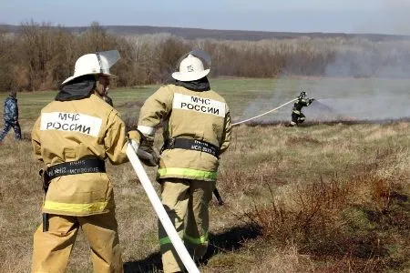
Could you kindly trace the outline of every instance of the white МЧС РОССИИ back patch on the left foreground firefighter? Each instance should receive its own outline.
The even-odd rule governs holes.
[[[58,130],[78,132],[89,136],[98,136],[102,119],[78,113],[42,113],[40,130]]]

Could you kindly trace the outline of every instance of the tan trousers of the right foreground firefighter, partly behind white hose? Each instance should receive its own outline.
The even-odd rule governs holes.
[[[208,248],[209,210],[215,182],[168,178],[161,181],[162,205],[183,239],[190,255],[200,258]],[[164,273],[181,271],[183,265],[159,223],[159,245]]]

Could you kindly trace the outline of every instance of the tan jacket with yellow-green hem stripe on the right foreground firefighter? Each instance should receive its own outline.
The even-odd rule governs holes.
[[[223,153],[231,143],[230,109],[213,90],[192,91],[184,86],[161,86],[141,107],[138,129],[153,136],[162,121],[163,137],[204,141]],[[190,149],[165,149],[159,161],[158,178],[179,177],[214,181],[219,158]]]

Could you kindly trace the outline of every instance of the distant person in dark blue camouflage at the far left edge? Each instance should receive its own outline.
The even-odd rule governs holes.
[[[8,131],[13,127],[15,130],[15,139],[21,140],[21,128],[18,123],[18,106],[17,106],[17,93],[15,91],[10,92],[9,96],[5,98],[4,118],[5,127],[0,133],[0,143],[7,135]]]

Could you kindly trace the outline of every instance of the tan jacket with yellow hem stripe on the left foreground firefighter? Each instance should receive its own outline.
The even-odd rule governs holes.
[[[84,158],[126,162],[127,137],[118,111],[92,94],[53,101],[41,110],[32,131],[36,157],[47,167]],[[51,180],[43,212],[68,216],[106,213],[115,207],[106,173],[84,173]]]

